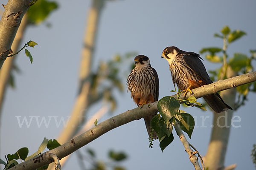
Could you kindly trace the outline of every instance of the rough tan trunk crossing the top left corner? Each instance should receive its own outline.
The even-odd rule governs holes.
[[[12,46],[20,21],[29,9],[30,3],[31,0],[9,0],[4,6],[5,11],[0,21],[0,69],[8,57],[8,51]]]

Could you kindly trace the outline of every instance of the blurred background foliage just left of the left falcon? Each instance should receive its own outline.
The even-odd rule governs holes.
[[[127,53],[125,55],[115,55],[109,61],[101,61],[96,71],[92,71],[88,77],[91,82],[90,101],[92,103],[104,99],[111,104],[111,111],[116,108],[116,99],[114,90],[117,89],[120,93],[124,90],[123,77],[129,74],[132,63],[129,58],[136,53]],[[87,81],[85,80],[85,81]]]

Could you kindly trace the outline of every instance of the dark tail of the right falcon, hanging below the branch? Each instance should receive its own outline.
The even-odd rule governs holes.
[[[205,101],[216,113],[221,113],[226,109],[233,110],[229,105],[227,105],[219,94],[211,94],[208,96],[204,96]]]

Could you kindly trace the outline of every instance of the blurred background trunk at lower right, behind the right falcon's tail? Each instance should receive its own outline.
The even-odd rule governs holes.
[[[235,77],[236,73],[230,67],[227,68],[227,78]],[[221,96],[228,105],[235,108],[236,89],[232,88],[221,92]],[[204,164],[208,170],[223,170],[230,135],[233,110],[213,113],[212,134],[209,142]]]

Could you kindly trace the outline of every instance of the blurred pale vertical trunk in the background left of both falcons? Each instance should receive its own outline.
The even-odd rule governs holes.
[[[102,11],[104,0],[93,0],[90,8],[87,28],[84,34],[84,47],[81,52],[81,65],[79,71],[80,91],[76,98],[76,102],[71,113],[70,120],[61,135],[58,137],[58,142],[63,144],[70,140],[78,129],[81,119],[84,117],[88,103],[88,92],[90,90],[90,81],[86,81],[90,76],[91,64],[93,59],[93,49],[95,47],[95,39],[99,16]]]

